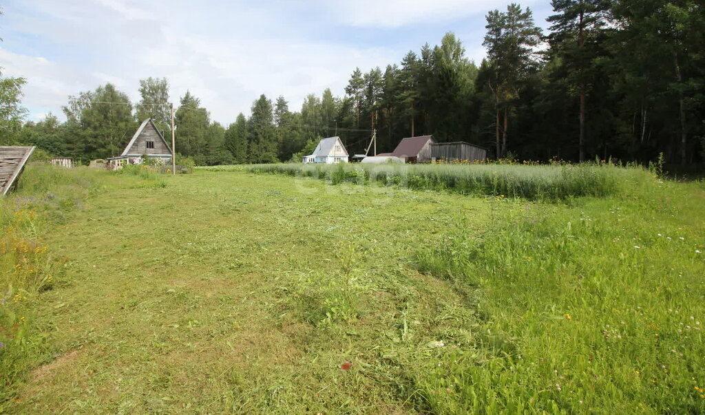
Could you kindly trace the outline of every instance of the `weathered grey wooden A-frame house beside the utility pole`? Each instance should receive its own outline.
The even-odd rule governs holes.
[[[111,168],[122,168],[125,164],[140,164],[142,163],[142,155],[146,154],[150,159],[157,159],[159,163],[171,161],[173,153],[171,147],[164,140],[157,125],[154,125],[152,118],[147,118],[137,132],[133,135],[132,140],[123,154],[117,157],[108,159]]]

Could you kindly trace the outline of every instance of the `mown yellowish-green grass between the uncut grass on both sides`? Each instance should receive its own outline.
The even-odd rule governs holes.
[[[39,297],[56,359],[19,412],[407,413],[435,340],[470,350],[470,286],[419,247],[525,202],[251,173],[107,190],[47,235],[71,280]],[[341,371],[343,361],[353,362]]]

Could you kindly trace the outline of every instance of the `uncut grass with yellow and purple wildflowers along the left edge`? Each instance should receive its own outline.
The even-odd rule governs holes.
[[[27,371],[51,359],[44,319],[35,304],[42,292],[66,283],[66,256],[42,240],[102,190],[159,187],[152,178],[67,170],[30,163],[15,192],[0,198],[0,404],[17,394]]]

